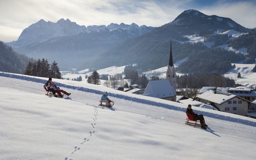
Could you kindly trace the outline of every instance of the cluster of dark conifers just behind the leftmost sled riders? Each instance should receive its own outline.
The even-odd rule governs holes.
[[[62,79],[58,64],[55,61],[52,62],[52,64],[49,64],[48,60],[44,58],[42,58],[42,60],[38,59],[36,62],[30,61],[24,74],[29,76]]]

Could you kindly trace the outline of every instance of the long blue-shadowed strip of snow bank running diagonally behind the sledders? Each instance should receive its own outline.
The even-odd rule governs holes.
[[[9,74],[9,73],[3,73],[3,72],[0,72],[0,76],[20,79],[20,80],[26,80],[26,81],[32,81],[32,82],[37,82],[37,83],[42,83],[42,84],[45,84],[45,82],[46,82],[46,80],[42,80],[40,78],[20,76],[20,75],[16,75],[16,74]],[[100,94],[100,95],[102,94],[102,91],[100,91],[100,90],[94,90],[94,89],[90,89],[90,88],[71,86],[71,85],[66,85],[66,84],[62,84],[62,83],[58,83],[58,82],[55,82],[55,84],[57,86],[60,86],[60,87],[65,87],[65,88],[69,88],[69,89],[73,89],[73,90],[79,90],[79,91],[82,91],[82,92],[90,92],[90,93]],[[148,104],[148,105],[152,105],[152,106],[167,108],[167,109],[170,109],[170,110],[186,112],[186,108],[172,106],[172,105],[169,105],[169,104],[163,104],[163,103],[158,103],[158,102],[154,102],[154,101],[150,101],[150,100],[144,100],[144,99],[140,99],[140,98],[124,96],[122,94],[109,93],[109,95],[112,96],[112,97],[115,97],[115,98],[134,101],[134,102],[138,102],[138,103],[142,103],[142,104]],[[207,117],[210,117],[210,118],[216,118],[216,119],[219,119],[219,120],[226,120],[226,121],[229,121],[229,122],[235,122],[235,123],[240,123],[240,124],[245,124],[245,125],[248,125],[248,126],[256,127],[256,122],[252,122],[252,121],[249,121],[249,120],[243,120],[243,119],[240,119],[240,118],[232,118],[230,116],[224,116],[224,115],[214,114],[214,113],[209,113],[209,112],[204,112],[204,111],[197,111],[197,112],[198,112],[198,114],[203,114],[204,116],[207,116]]]

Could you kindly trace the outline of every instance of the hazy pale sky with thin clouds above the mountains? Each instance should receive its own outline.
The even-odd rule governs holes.
[[[68,18],[84,26],[134,22],[158,27],[188,9],[256,27],[256,0],[0,0],[0,40],[17,40],[22,30],[40,19]]]

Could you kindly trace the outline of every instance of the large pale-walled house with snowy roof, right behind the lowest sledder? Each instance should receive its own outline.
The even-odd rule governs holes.
[[[248,103],[250,104],[250,101],[233,94],[218,93],[215,90],[208,90],[196,97],[200,102],[210,104],[222,112],[241,116],[248,114]]]

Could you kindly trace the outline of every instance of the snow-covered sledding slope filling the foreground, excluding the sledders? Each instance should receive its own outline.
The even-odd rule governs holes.
[[[0,159],[170,160],[256,157],[256,120],[205,108],[208,129],[184,124],[186,106],[82,82],[44,95],[48,78],[0,72]],[[98,106],[109,92],[114,108]]]

